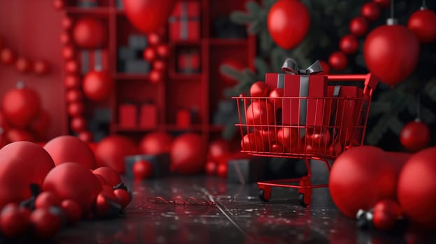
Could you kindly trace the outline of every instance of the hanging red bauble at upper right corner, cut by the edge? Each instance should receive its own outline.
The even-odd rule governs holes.
[[[428,9],[418,10],[409,17],[407,27],[421,43],[433,43],[436,40],[436,13]]]

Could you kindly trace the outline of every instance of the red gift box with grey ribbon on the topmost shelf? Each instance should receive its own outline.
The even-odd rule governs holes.
[[[169,22],[170,40],[200,40],[200,3],[177,2]]]

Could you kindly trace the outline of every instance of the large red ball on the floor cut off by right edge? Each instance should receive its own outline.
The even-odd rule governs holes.
[[[398,178],[398,201],[412,222],[436,230],[436,147],[412,155]]]

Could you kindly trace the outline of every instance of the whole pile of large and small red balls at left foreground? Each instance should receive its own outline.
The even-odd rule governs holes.
[[[96,169],[91,148],[77,137],[56,137],[44,147],[8,144],[0,171],[0,231],[10,238],[50,238],[65,223],[116,217],[132,199],[115,170]]]

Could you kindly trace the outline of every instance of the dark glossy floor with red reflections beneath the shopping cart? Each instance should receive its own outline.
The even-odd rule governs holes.
[[[361,231],[315,189],[312,205],[298,204],[296,190],[274,188],[268,204],[256,184],[231,185],[197,176],[128,183],[133,202],[122,218],[85,221],[64,229],[54,243],[436,243],[435,236]],[[216,206],[153,204],[147,197],[213,199]]]

